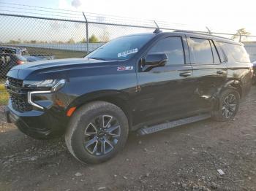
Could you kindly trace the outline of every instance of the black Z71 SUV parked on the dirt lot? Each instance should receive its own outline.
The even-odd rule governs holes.
[[[129,130],[232,119],[251,85],[242,44],[156,31],[113,39],[85,58],[15,66],[7,120],[36,139],[64,134],[74,157],[101,163],[124,147]]]

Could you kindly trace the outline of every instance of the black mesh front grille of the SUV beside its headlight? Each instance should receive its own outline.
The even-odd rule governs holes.
[[[32,106],[28,103],[28,91],[22,86],[23,80],[8,77],[8,81],[7,90],[10,93],[13,109],[18,112],[31,111]]]

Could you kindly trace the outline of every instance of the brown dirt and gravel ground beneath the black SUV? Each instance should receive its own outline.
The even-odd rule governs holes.
[[[63,138],[23,135],[1,113],[0,190],[256,190],[255,95],[254,87],[231,122],[132,133],[124,151],[100,165],[79,163]]]

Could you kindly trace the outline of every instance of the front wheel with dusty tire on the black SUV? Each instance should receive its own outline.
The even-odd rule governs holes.
[[[70,119],[65,141],[69,152],[82,163],[109,160],[126,144],[129,125],[116,105],[94,101],[81,106]]]

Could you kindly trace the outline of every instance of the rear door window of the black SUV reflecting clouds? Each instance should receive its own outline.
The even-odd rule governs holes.
[[[211,44],[207,39],[191,39],[191,46],[193,49],[195,62],[198,64],[211,64],[214,63],[212,57]]]

